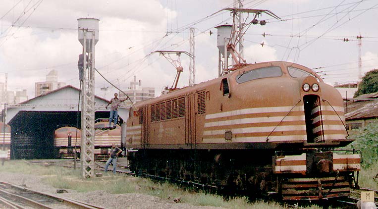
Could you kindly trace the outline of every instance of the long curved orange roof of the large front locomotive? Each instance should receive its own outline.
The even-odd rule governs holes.
[[[240,72],[243,72],[245,70],[253,70],[253,69],[257,69],[257,68],[261,68],[261,67],[266,67],[267,64],[270,64],[270,66],[279,66],[279,67],[281,67],[281,69],[289,67],[289,66],[301,68],[301,69],[306,70],[307,72],[317,76],[317,78],[319,78],[319,80],[321,82],[323,82],[323,80],[313,70],[311,70],[310,68],[305,67],[303,65],[300,65],[300,64],[296,64],[296,63],[293,63],[293,62],[286,62],[286,61],[259,62],[259,63],[254,63],[254,64],[247,64],[243,67],[240,67],[239,69],[232,71],[229,74],[223,75],[223,76],[215,78],[213,80],[204,81],[204,82],[196,84],[192,87],[186,86],[186,87],[171,91],[166,95],[162,95],[162,96],[156,97],[154,99],[145,100],[145,101],[136,103],[135,106],[141,106],[141,105],[144,105],[144,104],[150,104],[150,103],[155,103],[155,102],[159,102],[159,101],[166,100],[166,99],[176,98],[176,97],[185,95],[186,93],[191,92],[191,91],[202,90],[206,86],[212,85],[214,83],[219,83],[223,78],[232,77],[233,75],[239,74]]]

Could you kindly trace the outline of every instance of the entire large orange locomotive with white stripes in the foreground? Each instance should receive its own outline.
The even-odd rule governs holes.
[[[340,94],[311,69],[276,61],[135,104],[126,128],[131,170],[277,194],[348,196],[360,155],[346,139]]]

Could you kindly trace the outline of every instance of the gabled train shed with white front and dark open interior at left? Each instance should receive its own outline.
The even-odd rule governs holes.
[[[63,126],[80,128],[79,92],[68,85],[7,108],[6,123],[11,126],[10,157],[54,158],[54,131]],[[107,104],[108,100],[95,97],[95,119],[109,117]],[[122,123],[128,110],[120,108],[118,112]]]

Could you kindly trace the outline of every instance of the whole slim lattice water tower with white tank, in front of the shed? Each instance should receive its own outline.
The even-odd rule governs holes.
[[[99,41],[99,19],[77,19],[79,42],[83,46],[83,79],[81,81],[81,150],[82,176],[95,172],[95,45]]]

